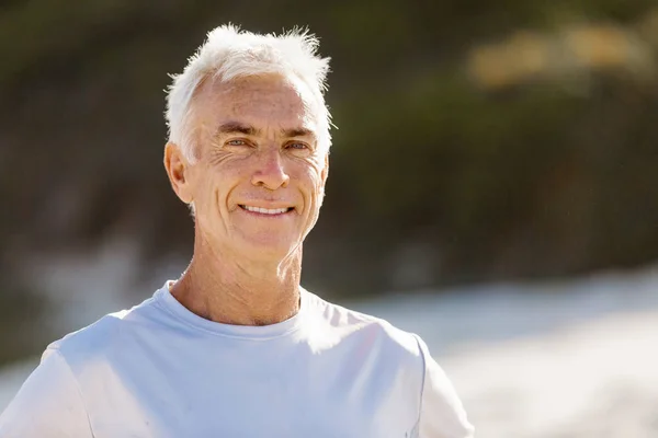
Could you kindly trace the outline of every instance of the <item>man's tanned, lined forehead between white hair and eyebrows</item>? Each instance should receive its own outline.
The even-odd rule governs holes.
[[[313,95],[280,76],[246,77],[228,82],[206,81],[195,97],[195,113],[206,127],[227,122],[258,128],[306,128],[317,130]]]

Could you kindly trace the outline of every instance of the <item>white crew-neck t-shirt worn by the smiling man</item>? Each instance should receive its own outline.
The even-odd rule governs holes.
[[[166,285],[53,343],[1,438],[466,438],[450,381],[413,334],[302,289],[266,326],[190,312]]]

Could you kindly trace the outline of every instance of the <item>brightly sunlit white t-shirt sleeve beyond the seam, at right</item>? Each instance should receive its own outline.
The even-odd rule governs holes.
[[[416,336],[424,360],[424,382],[420,407],[420,438],[472,438],[474,428],[468,423],[462,401],[429,353],[424,342]]]

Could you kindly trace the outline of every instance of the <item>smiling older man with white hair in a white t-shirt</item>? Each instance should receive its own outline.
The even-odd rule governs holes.
[[[175,77],[164,168],[194,256],[141,304],[52,344],[0,437],[465,438],[413,334],[299,285],[330,146],[307,34],[222,26]]]

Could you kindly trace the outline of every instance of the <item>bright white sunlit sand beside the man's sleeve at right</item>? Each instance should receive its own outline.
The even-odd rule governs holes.
[[[478,438],[658,436],[658,312],[441,358]]]

